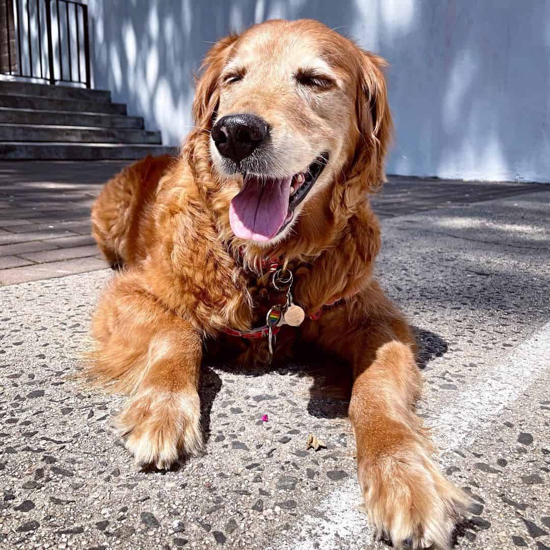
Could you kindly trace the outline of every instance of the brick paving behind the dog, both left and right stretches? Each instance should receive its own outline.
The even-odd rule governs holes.
[[[90,206],[127,162],[0,163],[0,285],[107,267],[90,235]],[[390,177],[374,204],[381,217],[519,195],[543,189]]]

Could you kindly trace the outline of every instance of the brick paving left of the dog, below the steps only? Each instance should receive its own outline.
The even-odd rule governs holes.
[[[0,163],[0,284],[107,267],[90,206],[126,162]]]

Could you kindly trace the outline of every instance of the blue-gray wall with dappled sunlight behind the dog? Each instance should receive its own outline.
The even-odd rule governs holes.
[[[95,86],[162,130],[189,131],[211,42],[275,17],[315,18],[386,57],[388,173],[550,182],[545,0],[89,0]]]

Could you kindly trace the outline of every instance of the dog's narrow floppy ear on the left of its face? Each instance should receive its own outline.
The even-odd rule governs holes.
[[[216,42],[201,64],[193,101],[193,118],[201,129],[212,128],[212,118],[219,102],[219,76],[237,38],[238,35],[232,34]]]

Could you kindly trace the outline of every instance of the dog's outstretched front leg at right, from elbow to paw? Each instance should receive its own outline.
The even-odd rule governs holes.
[[[350,418],[365,509],[395,548],[411,539],[447,549],[467,500],[434,463],[426,428],[414,414],[420,376],[411,347],[389,340],[374,360],[355,365]]]

